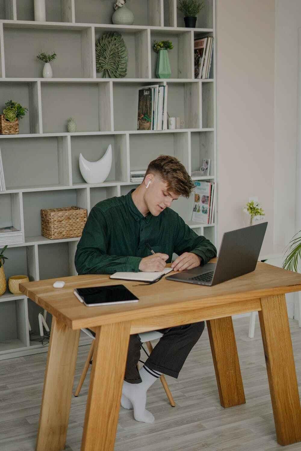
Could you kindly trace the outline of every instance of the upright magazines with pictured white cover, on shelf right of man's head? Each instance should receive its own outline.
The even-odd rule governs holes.
[[[213,224],[215,189],[212,182],[194,182],[194,205],[192,221],[202,224]]]

